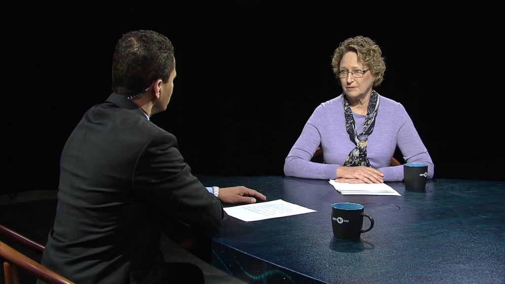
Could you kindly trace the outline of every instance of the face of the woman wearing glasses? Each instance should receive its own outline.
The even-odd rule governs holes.
[[[358,55],[355,52],[349,51],[344,54],[340,61],[339,70],[346,70],[348,72],[345,78],[340,78],[340,83],[344,93],[347,95],[347,100],[365,99],[372,94],[374,76],[367,66],[358,62]],[[365,71],[363,77],[354,77],[351,72],[355,70]]]

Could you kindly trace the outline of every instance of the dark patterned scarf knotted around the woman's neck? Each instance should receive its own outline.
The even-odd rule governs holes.
[[[379,109],[379,94],[372,90],[372,95],[370,97],[370,102],[368,102],[367,107],[367,118],[365,119],[365,124],[363,125],[363,132],[358,134],[356,131],[356,122],[352,116],[352,111],[349,106],[349,102],[345,98],[345,94],[342,94],[342,103],[344,105],[344,115],[345,115],[345,129],[349,133],[349,138],[356,148],[350,151],[349,156],[345,159],[344,166],[346,167],[356,167],[356,166],[367,166],[370,167],[370,161],[367,158],[367,140],[368,135],[372,134],[375,126],[375,117],[377,116],[377,110]]]

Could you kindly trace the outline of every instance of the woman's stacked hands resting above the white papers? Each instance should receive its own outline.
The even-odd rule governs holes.
[[[338,166],[336,182],[348,183],[381,183],[384,174],[377,169],[365,166],[344,167]]]

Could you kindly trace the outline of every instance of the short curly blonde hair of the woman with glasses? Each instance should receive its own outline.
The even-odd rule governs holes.
[[[340,70],[340,61],[344,54],[349,51],[355,52],[358,55],[358,62],[370,69],[370,73],[375,78],[373,86],[380,85],[382,80],[384,80],[384,71],[386,71],[386,63],[382,57],[382,52],[375,41],[361,35],[347,38],[340,43],[333,53],[331,66],[338,82],[340,83],[340,78],[337,74]]]

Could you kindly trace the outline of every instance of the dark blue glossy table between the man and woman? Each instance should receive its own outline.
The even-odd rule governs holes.
[[[228,217],[208,236],[211,264],[249,283],[504,283],[505,182],[436,179],[401,196],[341,195],[327,180],[206,177],[245,185],[268,201],[317,212],[245,222]],[[333,237],[331,204],[356,202],[375,226],[358,242]],[[364,227],[368,226],[364,219]]]

